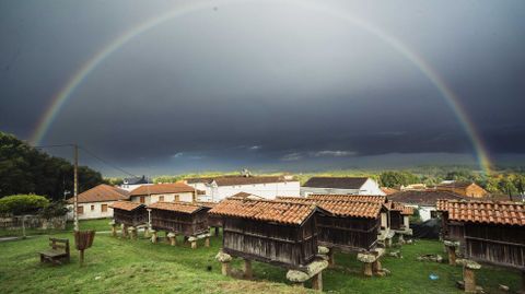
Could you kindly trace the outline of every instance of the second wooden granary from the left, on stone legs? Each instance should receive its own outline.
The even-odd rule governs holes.
[[[177,235],[183,235],[185,240],[190,242],[194,249],[197,248],[198,239],[206,239],[205,245],[209,246],[209,207],[189,202],[156,202],[149,209],[153,243],[156,243],[158,231],[165,231],[166,238],[173,246],[176,245]]]

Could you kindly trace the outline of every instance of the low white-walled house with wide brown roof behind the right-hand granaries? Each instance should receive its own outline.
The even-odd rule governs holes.
[[[411,207],[419,212],[421,221],[428,221],[436,216],[435,203],[438,199],[468,200],[460,195],[440,190],[407,190],[388,196],[388,200]]]

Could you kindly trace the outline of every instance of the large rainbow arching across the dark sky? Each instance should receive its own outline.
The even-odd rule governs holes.
[[[224,1],[199,1],[199,0],[190,0],[186,4],[177,4],[171,11],[158,15],[151,20],[147,20],[141,24],[131,27],[119,37],[115,38],[113,42],[107,44],[103,47],[100,51],[97,51],[92,58],[90,58],[83,66],[68,80],[66,85],[60,89],[60,91],[52,97],[47,110],[44,113],[42,118],[38,120],[34,132],[31,136],[30,141],[33,144],[42,144],[42,140],[45,138],[46,133],[48,132],[49,128],[51,127],[55,118],[58,116],[60,110],[62,109],[63,105],[70,99],[75,92],[75,90],[84,82],[88,77],[102,63],[106,58],[108,58],[112,54],[117,51],[120,47],[125,46],[128,42],[133,39],[135,37],[148,32],[149,30],[166,22],[173,20],[175,17],[180,17],[192,12],[197,12],[205,9],[212,9],[220,5],[225,4],[234,4],[234,3],[244,3],[244,2],[257,2],[260,0],[224,0]],[[275,1],[278,4],[283,3],[293,3],[299,5],[303,9],[314,10],[317,13],[326,13],[327,15],[343,20],[349,22],[353,25],[359,26],[360,28],[369,32],[370,34],[378,37],[384,43],[388,44],[392,48],[394,48],[397,52],[402,55],[407,60],[413,63],[421,73],[423,73],[430,82],[438,89],[441,93],[443,98],[445,99],[446,104],[452,108],[454,111],[459,125],[465,130],[468,139],[470,140],[476,158],[481,170],[486,174],[490,173],[491,161],[486,151],[486,148],[482,143],[480,136],[477,133],[474,124],[469,120],[466,111],[458,103],[457,96],[454,92],[445,84],[443,79],[435,72],[432,67],[423,59],[421,56],[416,54],[415,51],[410,50],[404,43],[401,43],[396,37],[387,34],[385,31],[381,30],[377,26],[372,25],[371,23],[365,22],[362,19],[359,19],[347,11],[336,10],[334,8],[329,8],[326,5],[322,5],[319,3],[315,3],[311,0],[289,0],[289,1],[276,1],[276,0],[264,0],[264,2]]]

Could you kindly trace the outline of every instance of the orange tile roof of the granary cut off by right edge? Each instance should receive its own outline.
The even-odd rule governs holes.
[[[440,200],[438,210],[458,222],[525,226],[525,203]]]

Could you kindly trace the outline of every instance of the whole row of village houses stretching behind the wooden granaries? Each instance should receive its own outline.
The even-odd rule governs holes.
[[[312,195],[386,196],[394,202],[416,209],[421,221],[436,216],[439,199],[493,199],[476,183],[444,180],[433,187],[412,184],[395,189],[380,187],[370,177],[312,177],[301,186],[292,175],[254,176],[248,170],[242,170],[238,175],[187,178],[177,183],[153,184],[142,176],[125,178],[118,186],[102,184],[78,196],[78,213],[81,220],[112,217],[112,204],[119,200],[149,205],[173,201],[220,202],[231,197],[275,200]],[[68,202],[71,205],[69,216],[72,217],[73,199]]]

